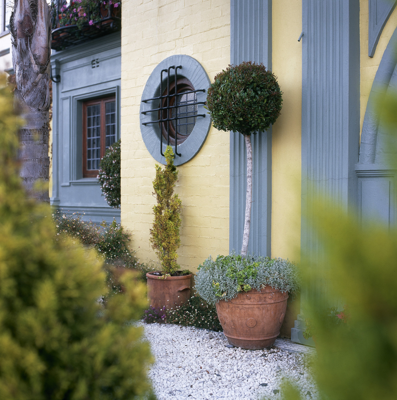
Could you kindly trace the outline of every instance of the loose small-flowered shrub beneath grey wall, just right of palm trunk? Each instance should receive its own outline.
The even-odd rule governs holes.
[[[84,214],[83,214],[84,215]],[[56,210],[52,214],[56,226],[56,240],[67,241],[68,238],[85,246],[94,245],[101,240],[101,229],[93,222],[84,221],[82,214],[67,214]]]

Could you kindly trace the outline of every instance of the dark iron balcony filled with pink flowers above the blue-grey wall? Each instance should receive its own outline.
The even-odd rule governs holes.
[[[121,29],[120,0],[54,0],[52,10],[51,47],[54,50]]]

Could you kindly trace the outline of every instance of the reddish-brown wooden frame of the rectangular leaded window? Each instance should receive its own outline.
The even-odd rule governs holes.
[[[98,170],[87,170],[87,107],[94,106],[100,104],[100,113],[101,113],[101,130],[100,130],[100,144],[101,144],[101,152],[100,157],[102,158],[105,155],[106,151],[106,103],[116,102],[115,96],[100,98],[96,100],[89,100],[83,102],[83,178],[96,178],[98,175]],[[117,109],[116,109],[117,113]]]

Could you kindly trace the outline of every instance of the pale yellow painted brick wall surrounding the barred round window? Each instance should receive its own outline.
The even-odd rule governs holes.
[[[133,235],[141,262],[155,260],[155,160],[139,125],[147,78],[173,54],[202,64],[211,80],[230,63],[230,0],[125,0],[121,38],[121,222]],[[211,128],[200,152],[178,167],[182,200],[178,262],[195,270],[209,254],[229,251],[229,134]]]

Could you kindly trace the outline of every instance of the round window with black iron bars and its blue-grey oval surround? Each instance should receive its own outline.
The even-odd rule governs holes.
[[[155,160],[165,164],[167,143],[175,165],[200,151],[211,126],[204,108],[209,86],[204,68],[189,56],[168,57],[153,70],[142,94],[140,120],[142,138]]]

